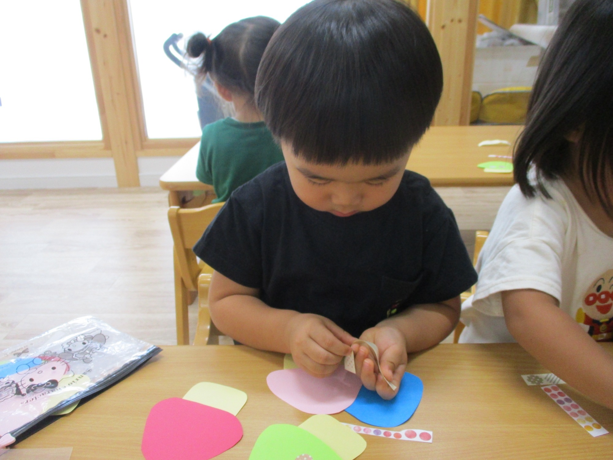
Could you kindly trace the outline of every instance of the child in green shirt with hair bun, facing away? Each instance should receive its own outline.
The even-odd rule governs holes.
[[[230,24],[212,40],[197,33],[188,41],[188,56],[199,58],[197,80],[208,75],[235,112],[234,117],[202,130],[196,177],[213,185],[217,195],[213,202],[226,201],[235,188],[283,161],[281,148],[254,102],[257,67],[279,25],[264,16],[246,18]]]

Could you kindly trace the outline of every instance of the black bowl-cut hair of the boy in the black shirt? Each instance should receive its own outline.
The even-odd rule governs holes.
[[[311,163],[389,163],[424,134],[443,89],[430,32],[397,0],[314,0],[276,31],[256,103]]]

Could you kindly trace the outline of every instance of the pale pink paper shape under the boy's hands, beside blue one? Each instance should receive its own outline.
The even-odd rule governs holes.
[[[313,377],[302,369],[275,370],[266,378],[268,388],[287,404],[312,414],[338,413],[357,397],[362,381],[343,367],[330,377]]]

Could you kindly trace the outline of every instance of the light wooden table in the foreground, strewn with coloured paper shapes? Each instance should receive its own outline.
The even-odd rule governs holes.
[[[604,347],[613,352],[613,344]],[[248,394],[238,413],[245,435],[218,457],[246,459],[267,426],[298,425],[310,416],[268,390],[266,375],[282,367],[282,355],[248,347],[164,347],[134,375],[17,448],[73,447],[71,460],[142,458],[140,440],[150,408],[162,399],[183,396],[199,381],[214,381]],[[539,386],[524,383],[520,374],[545,370],[517,344],[438,345],[413,356],[408,370],[421,377],[425,390],[416,413],[402,428],[433,431],[433,443],[365,435],[368,447],[359,460],[592,460],[613,456],[613,411],[563,385],[569,396],[612,431],[593,438]],[[346,412],[334,417],[364,425]]]

